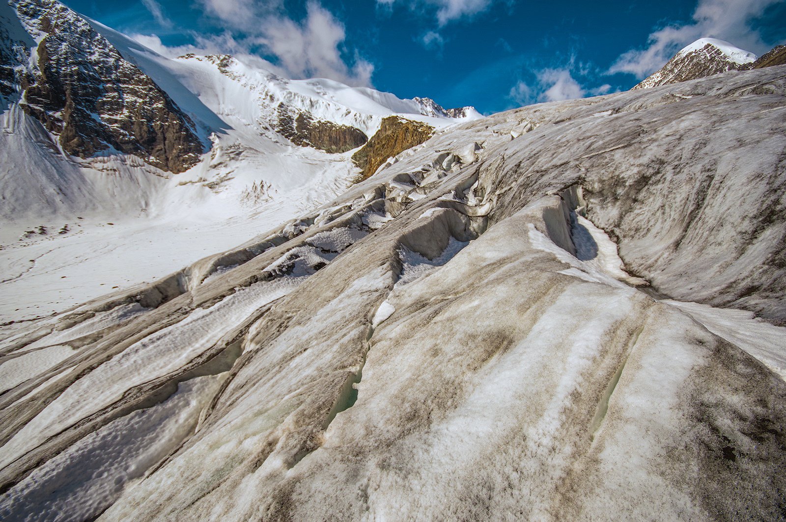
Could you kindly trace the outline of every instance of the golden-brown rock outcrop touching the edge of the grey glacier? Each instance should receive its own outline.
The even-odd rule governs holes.
[[[352,155],[352,161],[361,168],[361,179],[365,180],[391,156],[413,148],[433,135],[434,128],[425,123],[388,116],[382,120],[380,130],[376,131],[369,143]]]

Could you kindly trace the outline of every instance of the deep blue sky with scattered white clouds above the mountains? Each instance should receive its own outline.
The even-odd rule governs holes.
[[[705,36],[762,54],[786,0],[65,0],[157,51],[230,53],[491,113],[630,89]]]

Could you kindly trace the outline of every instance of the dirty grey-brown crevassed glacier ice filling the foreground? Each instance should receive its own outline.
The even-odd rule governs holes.
[[[0,517],[783,517],[784,121],[786,67],[508,111],[30,323]]]

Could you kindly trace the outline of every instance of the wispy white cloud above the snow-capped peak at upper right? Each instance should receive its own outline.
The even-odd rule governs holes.
[[[699,38],[718,38],[734,46],[764,53],[769,46],[751,22],[765,9],[783,0],[700,0],[692,23],[669,25],[649,35],[645,49],[623,53],[608,72],[626,72],[644,78],[665,64],[682,47]]]

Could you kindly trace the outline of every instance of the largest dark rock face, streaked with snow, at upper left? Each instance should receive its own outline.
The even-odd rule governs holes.
[[[115,149],[175,173],[199,160],[204,147],[189,117],[90,24],[53,0],[19,2],[17,12],[29,33],[44,35],[38,68],[17,72],[20,105],[64,151],[88,158]]]

